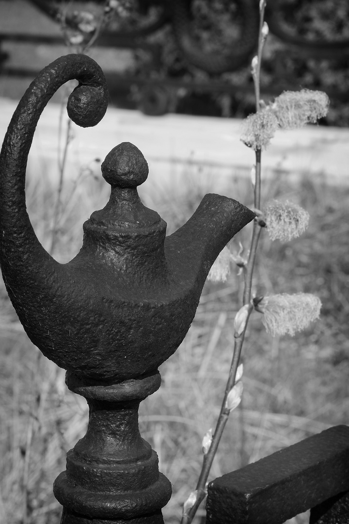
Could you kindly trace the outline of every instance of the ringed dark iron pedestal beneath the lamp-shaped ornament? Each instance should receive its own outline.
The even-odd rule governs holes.
[[[66,383],[87,399],[89,421],[54,482],[61,524],[162,524],[171,483],[138,429],[139,403],[160,387],[160,374],[106,386],[67,374]]]

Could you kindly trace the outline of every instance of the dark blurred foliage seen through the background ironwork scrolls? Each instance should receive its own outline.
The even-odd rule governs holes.
[[[194,13],[200,12],[202,4],[231,4],[229,0],[194,0]],[[275,4],[275,2],[274,2]],[[274,8],[274,4],[271,8]],[[349,39],[349,4],[346,0],[278,0],[277,19],[290,35],[307,41],[339,41]],[[222,7],[224,10],[224,6]],[[268,20],[268,17],[266,18]],[[193,31],[204,35],[200,42],[208,42],[208,49],[227,53],[227,41],[214,30],[207,28],[207,19],[196,18]],[[232,25],[234,31],[238,27]],[[230,28],[231,30],[231,28]],[[213,39],[213,42],[212,42]],[[216,40],[215,40],[216,39]],[[179,89],[176,93],[175,111],[189,114],[245,117],[254,111],[253,83],[249,61],[233,72],[213,75],[191,65],[179,50],[172,26],[166,26],[147,37],[161,46],[160,67],[151,74],[156,79],[177,79],[209,86],[212,81],[222,81],[227,87],[234,86],[235,93],[209,93],[207,89]],[[348,41],[347,41],[348,44]],[[345,51],[345,52],[344,52]],[[149,62],[144,52],[134,51],[137,62],[136,74],[144,74]],[[269,34],[263,58],[261,88],[265,99],[287,89],[316,89],[326,92],[331,99],[328,116],[321,124],[346,126],[349,123],[348,90],[349,47],[331,52],[309,51],[301,45],[291,45]],[[228,91],[228,90],[227,90]]]

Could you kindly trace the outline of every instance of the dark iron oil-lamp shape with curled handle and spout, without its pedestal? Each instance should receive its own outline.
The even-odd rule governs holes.
[[[80,253],[59,264],[40,245],[25,209],[25,168],[38,118],[62,83],[78,78],[69,114],[83,126],[107,102],[102,70],[81,55],[61,57],[32,82],[18,105],[0,158],[0,260],[5,284],[34,344],[81,377],[125,380],[153,370],[184,339],[208,271],[254,213],[206,195],[193,217],[166,238],[166,223],[141,203],[148,175],[142,153],[115,147],[102,165],[109,202],[84,224]]]

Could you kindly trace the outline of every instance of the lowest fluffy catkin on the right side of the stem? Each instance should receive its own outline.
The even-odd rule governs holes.
[[[311,293],[280,293],[259,299],[255,309],[263,313],[267,333],[294,336],[319,318],[321,301]]]

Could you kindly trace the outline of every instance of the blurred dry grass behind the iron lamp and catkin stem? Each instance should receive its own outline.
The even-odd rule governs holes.
[[[161,191],[143,191],[145,203],[151,202],[171,231],[205,192],[190,185],[190,172],[184,175],[189,185],[173,188],[170,201]],[[80,248],[82,222],[107,199],[104,185],[91,173],[77,185],[65,184],[55,255],[60,261]],[[54,191],[47,180],[29,177],[31,220],[47,248]],[[232,182],[226,194],[251,205],[248,181]],[[242,409],[233,412],[227,424],[211,478],[348,420],[348,193],[314,180],[304,180],[295,189],[276,173],[275,180],[266,183],[265,194],[295,200],[312,220],[308,232],[288,244],[271,243],[264,235],[255,290],[314,292],[322,299],[322,316],[292,339],[272,339],[257,314],[252,317],[243,355]],[[245,228],[240,239],[248,236]],[[206,283],[185,341],[161,366],[161,389],[141,405],[142,436],[159,454],[161,471],[173,484],[173,497],[164,508],[167,524],[179,521],[181,505],[195,488],[202,436],[218,415],[240,287],[237,275],[224,285]],[[0,522],[58,524],[60,506],[52,483],[64,470],[65,453],[85,432],[86,403],[66,389],[62,370],[28,341],[3,287],[0,299]],[[196,522],[203,514],[199,511]]]

